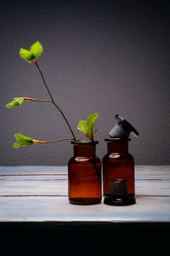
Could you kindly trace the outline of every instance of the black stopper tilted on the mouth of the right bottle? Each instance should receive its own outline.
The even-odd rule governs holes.
[[[109,132],[110,137],[127,138],[130,136],[131,132],[133,132],[136,137],[139,136],[139,132],[136,131],[133,125],[127,122],[126,119],[122,118],[122,116],[118,114],[116,114],[115,118],[118,121],[118,124],[114,125],[114,127]]]

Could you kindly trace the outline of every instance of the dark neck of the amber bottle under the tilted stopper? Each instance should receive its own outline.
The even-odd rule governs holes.
[[[119,153],[127,154],[128,153],[128,142],[127,141],[112,141],[107,143],[108,154]]]

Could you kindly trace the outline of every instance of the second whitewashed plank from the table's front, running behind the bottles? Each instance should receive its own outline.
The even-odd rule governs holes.
[[[136,195],[170,196],[170,180],[136,180]],[[67,180],[0,180],[3,195],[68,195]]]

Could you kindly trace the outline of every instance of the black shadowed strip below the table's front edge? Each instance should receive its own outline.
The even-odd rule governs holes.
[[[167,255],[167,224],[3,224],[2,255]],[[126,254],[125,254],[126,253]]]

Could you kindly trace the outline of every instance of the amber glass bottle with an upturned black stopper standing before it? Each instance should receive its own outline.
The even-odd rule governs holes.
[[[134,198],[134,160],[128,154],[129,138],[109,138],[108,153],[103,158],[104,203],[131,205]]]

